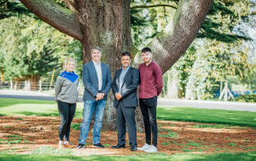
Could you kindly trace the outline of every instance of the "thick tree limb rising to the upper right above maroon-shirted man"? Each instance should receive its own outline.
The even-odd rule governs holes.
[[[183,55],[199,33],[201,24],[214,0],[180,0],[172,21],[146,46],[152,49],[153,60],[163,73]],[[137,54],[133,66],[143,63]]]

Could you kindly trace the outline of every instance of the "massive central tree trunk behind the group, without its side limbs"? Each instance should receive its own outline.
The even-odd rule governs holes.
[[[83,40],[84,64],[92,60],[91,49],[93,47],[102,48],[102,62],[110,66],[111,76],[121,68],[120,54],[133,50],[133,44],[130,33],[129,20],[129,1],[108,2],[98,1],[76,1],[78,17]],[[109,130],[116,129],[116,109],[113,107],[113,95],[110,91],[105,106],[104,128]],[[137,117],[141,117],[140,110],[137,110]],[[93,120],[93,119],[92,119]],[[137,127],[141,127],[142,118],[138,119]],[[138,131],[141,131],[138,128]]]

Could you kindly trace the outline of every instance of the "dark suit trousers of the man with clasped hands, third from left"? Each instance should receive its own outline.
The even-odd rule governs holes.
[[[125,107],[122,100],[116,108],[119,145],[126,143],[126,126],[128,127],[128,140],[130,146],[137,147],[137,128],[135,122],[135,106]]]

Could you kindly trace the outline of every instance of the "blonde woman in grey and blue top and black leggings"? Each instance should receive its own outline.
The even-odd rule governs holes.
[[[68,142],[70,124],[75,115],[76,102],[78,102],[78,76],[74,72],[75,59],[66,58],[64,72],[57,77],[55,87],[55,98],[57,109],[61,119],[58,128],[59,148],[75,148]]]

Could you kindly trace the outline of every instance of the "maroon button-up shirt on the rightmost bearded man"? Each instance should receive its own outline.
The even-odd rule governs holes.
[[[139,98],[150,98],[159,96],[163,89],[162,71],[158,64],[151,61],[148,66],[140,64],[138,66],[140,74]]]

